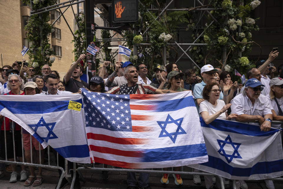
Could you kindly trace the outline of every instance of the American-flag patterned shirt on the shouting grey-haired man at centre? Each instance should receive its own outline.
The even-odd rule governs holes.
[[[124,84],[118,87],[113,87],[110,91],[107,91],[108,94],[155,94],[157,88],[152,87],[148,84],[138,84],[138,88],[134,93],[136,85],[133,87],[128,87],[128,84]]]

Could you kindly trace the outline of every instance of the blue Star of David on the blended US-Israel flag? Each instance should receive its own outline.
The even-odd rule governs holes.
[[[161,128],[161,132],[160,132],[158,137],[167,137],[168,136],[172,140],[172,142],[175,144],[175,141],[176,141],[178,135],[186,134],[185,130],[181,127],[183,119],[184,118],[179,118],[179,119],[174,120],[168,114],[165,121],[157,121],[158,125]],[[177,125],[176,132],[169,133],[168,131],[166,131],[166,126],[167,126],[167,124],[170,124],[170,123],[175,123]]]

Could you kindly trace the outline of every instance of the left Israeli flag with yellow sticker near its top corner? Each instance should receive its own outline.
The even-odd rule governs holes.
[[[80,94],[0,95],[0,114],[22,126],[44,148],[50,145],[71,162],[90,163],[82,104]]]

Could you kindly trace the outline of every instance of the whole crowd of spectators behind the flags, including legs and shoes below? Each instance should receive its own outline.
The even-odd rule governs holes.
[[[274,66],[269,67],[274,58],[279,55],[279,52],[274,51],[269,54],[269,58],[258,61],[256,67],[247,71],[247,81],[242,86],[237,81],[232,82],[232,74],[229,71],[214,69],[210,64],[204,65],[200,70],[200,75],[196,76],[195,70],[188,69],[182,72],[176,64],[168,64],[166,66],[157,65],[153,71],[155,78],[151,81],[148,77],[147,66],[140,63],[134,66],[133,63],[116,62],[113,73],[108,76],[107,67],[111,62],[105,61],[99,69],[98,75],[85,81],[83,75],[83,60],[85,54],[81,54],[75,61],[62,81],[57,71],[52,71],[50,66],[45,64],[42,66],[41,75],[35,75],[35,69],[30,66],[21,66],[15,62],[12,66],[5,65],[0,72],[0,94],[1,95],[65,95],[80,93],[80,88],[86,88],[92,92],[103,92],[108,94],[164,94],[173,92],[182,92],[191,90],[195,100],[199,116],[206,124],[211,123],[215,119],[236,120],[240,122],[250,122],[258,125],[261,131],[269,131],[272,120],[283,121],[283,64],[278,67],[278,76],[274,77],[277,70]],[[184,78],[185,76],[185,78]],[[15,155],[22,161],[40,162],[43,160],[45,153],[38,141],[23,129],[21,133],[18,124],[8,118],[1,116],[1,158],[9,161],[14,161],[13,152],[13,135],[11,130],[14,130],[15,140]],[[280,128],[281,125],[273,127]],[[6,130],[6,146],[5,153],[5,137]],[[22,157],[22,136],[24,157]],[[31,144],[32,143],[32,144]],[[34,148],[34,149],[33,149]],[[31,157],[30,151],[33,150],[34,157]],[[41,153],[39,153],[41,151]],[[56,154],[56,151],[53,151]],[[41,154],[41,158],[40,158]],[[57,155],[55,155],[57,158]],[[57,162],[57,159],[56,159]],[[58,156],[59,166],[64,167],[65,162],[62,156]],[[73,164],[70,163],[70,167]],[[107,167],[107,165],[105,165]],[[24,181],[24,186],[38,186],[42,184],[42,168],[38,168],[39,172],[36,175],[34,167],[29,166],[30,176],[27,177],[27,172],[24,166],[21,166],[20,180]],[[4,176],[5,164],[0,163],[0,177]],[[161,177],[162,184],[168,184],[168,176],[166,173],[168,168],[164,168],[164,174]],[[180,167],[175,167],[175,171],[179,171]],[[6,168],[7,171],[7,168]],[[193,182],[201,184],[198,172],[194,170]],[[59,172],[61,173],[61,172]],[[11,177],[9,182],[17,182],[17,171],[15,164],[11,164]],[[103,171],[103,179],[109,178],[109,173]],[[182,185],[183,180],[181,175],[173,174],[176,185]],[[139,179],[136,180],[134,172],[127,172],[127,183],[129,189],[142,188],[150,189],[148,185],[149,173],[140,173]],[[216,182],[216,185],[213,183]],[[226,180],[226,182],[229,182]],[[60,188],[63,188],[68,181],[64,178]],[[265,180],[268,189],[274,189],[272,180]],[[219,179],[215,177],[205,176],[206,188],[220,188]],[[237,181],[238,187],[248,189],[248,185],[244,180]],[[56,186],[57,187],[57,186]],[[75,180],[74,188],[80,188],[78,177]]]

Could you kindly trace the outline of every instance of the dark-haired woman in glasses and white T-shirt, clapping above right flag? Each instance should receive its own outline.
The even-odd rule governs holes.
[[[227,109],[231,106],[231,103],[225,105],[223,100],[219,100],[220,92],[219,84],[215,82],[206,84],[203,89],[204,101],[200,103],[200,115],[206,124],[217,118],[231,120],[237,117],[237,114],[228,116]]]

